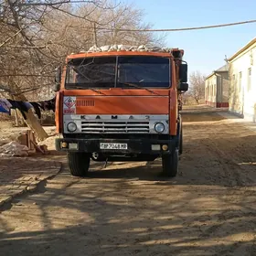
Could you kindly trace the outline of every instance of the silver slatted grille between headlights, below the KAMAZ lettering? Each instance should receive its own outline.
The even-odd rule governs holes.
[[[148,121],[82,121],[82,133],[149,133]]]

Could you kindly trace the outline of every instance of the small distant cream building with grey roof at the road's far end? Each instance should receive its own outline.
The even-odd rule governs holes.
[[[206,104],[215,108],[229,107],[229,65],[214,70],[205,80]]]

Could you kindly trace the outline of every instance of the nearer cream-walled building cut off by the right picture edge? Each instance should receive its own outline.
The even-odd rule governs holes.
[[[255,122],[256,119],[256,37],[240,48],[229,61],[229,112]]]

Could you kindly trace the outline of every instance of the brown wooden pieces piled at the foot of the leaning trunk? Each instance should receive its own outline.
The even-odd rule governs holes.
[[[29,151],[32,153],[40,152],[43,155],[46,155],[48,153],[48,146],[45,144],[38,145],[35,133],[33,133],[33,131],[31,130],[27,130],[26,133],[22,133],[21,135],[19,135],[17,140],[20,144],[27,145]]]

